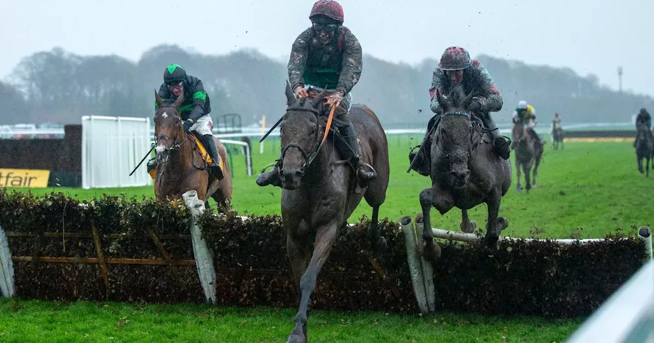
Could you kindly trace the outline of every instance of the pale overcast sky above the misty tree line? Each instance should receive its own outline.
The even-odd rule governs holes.
[[[310,25],[313,0],[1,0],[0,78],[22,57],[55,46],[137,61],[179,44],[203,54],[256,48],[286,58]],[[654,95],[653,0],[341,0],[364,53],[387,61],[438,58],[450,45],[472,56],[518,59],[593,73],[617,89]],[[648,36],[649,35],[649,36]],[[172,61],[171,61],[172,62]],[[362,77],[366,77],[366,69]]]

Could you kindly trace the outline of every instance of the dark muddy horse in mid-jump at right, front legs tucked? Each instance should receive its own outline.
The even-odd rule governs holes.
[[[468,210],[481,203],[488,206],[486,242],[492,246],[500,233],[508,227],[504,217],[498,217],[500,202],[511,186],[511,163],[495,154],[492,140],[483,129],[479,118],[472,118],[467,110],[472,92],[465,95],[461,87],[455,87],[446,98],[436,91],[438,103],[443,108],[438,125],[431,138],[432,187],[420,193],[422,237],[426,245],[424,258],[435,263],[441,250],[434,242],[430,210],[434,206],[440,214],[456,207],[461,210],[460,229],[472,233],[477,226],[468,218]]]

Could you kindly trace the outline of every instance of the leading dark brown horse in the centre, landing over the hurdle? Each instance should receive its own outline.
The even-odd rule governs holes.
[[[385,248],[377,217],[388,187],[388,142],[375,113],[367,106],[353,105],[349,115],[358,132],[362,159],[377,171],[368,184],[359,185],[349,160],[338,159],[341,153],[336,145],[343,142],[335,133],[323,140],[322,101],[328,91],[320,91],[313,99],[296,99],[287,82],[285,93],[287,108],[280,124],[281,212],[288,259],[300,286],[300,306],[287,342],[307,342],[309,303],[318,272],[339,228],[346,225],[362,197],[372,207],[370,244],[375,251]]]

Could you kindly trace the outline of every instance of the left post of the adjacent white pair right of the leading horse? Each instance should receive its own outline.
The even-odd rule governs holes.
[[[405,216],[400,218],[400,227],[402,227],[402,232],[404,232],[404,243],[407,249],[407,262],[409,263],[409,273],[411,274],[411,284],[413,284],[415,300],[418,302],[420,312],[427,314],[429,312],[429,305],[427,304],[427,297],[424,293],[422,263],[417,252],[415,229],[413,229],[413,221],[411,221],[411,217]]]

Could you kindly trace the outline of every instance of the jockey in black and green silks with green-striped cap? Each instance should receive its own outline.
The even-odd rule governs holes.
[[[196,131],[200,134],[202,143],[211,156],[209,172],[222,180],[223,174],[220,169],[220,155],[216,149],[216,142],[213,140],[213,120],[209,112],[211,106],[209,95],[204,90],[202,81],[195,76],[186,74],[181,65],[171,64],[163,71],[163,84],[159,88],[159,95],[164,103],[171,103],[184,93],[184,102],[179,107],[179,114],[182,116],[184,131]],[[156,104],[154,105],[156,108]],[[148,162],[148,172],[156,168],[156,161]]]

